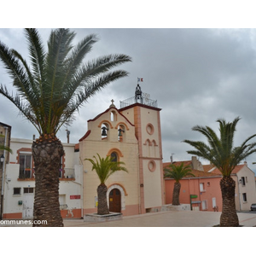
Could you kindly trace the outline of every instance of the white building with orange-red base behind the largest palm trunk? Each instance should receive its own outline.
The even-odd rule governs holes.
[[[60,170],[60,205],[62,218],[83,216],[83,166],[75,144],[63,143],[65,154]],[[32,161],[32,140],[12,138],[3,196],[3,218],[32,218],[35,179]]]

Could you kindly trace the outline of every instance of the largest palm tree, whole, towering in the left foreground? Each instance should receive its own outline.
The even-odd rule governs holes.
[[[84,64],[85,55],[98,40],[96,35],[91,34],[73,46],[74,32],[55,29],[50,32],[45,51],[36,29],[26,29],[25,34],[32,67],[15,49],[0,42],[0,59],[13,80],[17,96],[2,84],[0,93],[15,104],[40,136],[32,143],[36,182],[34,220],[46,220],[48,226],[63,226],[59,169],[64,150],[56,133],[61,125],[73,120],[73,113],[90,96],[128,75],[123,70],[110,70],[131,61],[131,57],[106,55]]]

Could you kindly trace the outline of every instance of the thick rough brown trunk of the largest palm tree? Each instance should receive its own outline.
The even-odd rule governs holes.
[[[63,226],[59,203],[59,171],[63,154],[63,146],[56,137],[40,139],[32,144],[36,180],[33,219],[37,222],[46,220],[44,226]]]

